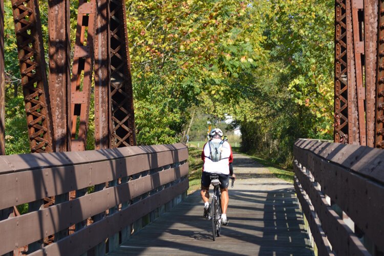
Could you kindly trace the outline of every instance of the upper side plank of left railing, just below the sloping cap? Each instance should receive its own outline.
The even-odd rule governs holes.
[[[172,164],[174,159],[184,161],[187,159],[185,152],[188,153],[187,150],[167,151],[149,156],[135,155],[3,174],[0,179],[0,209],[138,174],[143,170]]]

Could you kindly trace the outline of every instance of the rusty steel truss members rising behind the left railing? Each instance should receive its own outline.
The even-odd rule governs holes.
[[[76,2],[48,1],[45,47],[38,1],[11,1],[32,153],[86,150],[92,92],[95,148],[136,144],[125,1],[78,0],[71,49],[70,6]],[[0,11],[0,155],[4,155],[4,0]]]

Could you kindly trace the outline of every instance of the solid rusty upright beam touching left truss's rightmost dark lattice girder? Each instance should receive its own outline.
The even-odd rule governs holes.
[[[111,148],[109,0],[97,1],[95,23],[95,149]]]

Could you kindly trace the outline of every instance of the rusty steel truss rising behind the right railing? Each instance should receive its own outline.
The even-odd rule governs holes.
[[[335,1],[335,142],[384,148],[383,7]]]

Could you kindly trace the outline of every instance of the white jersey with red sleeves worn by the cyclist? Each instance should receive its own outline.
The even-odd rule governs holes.
[[[220,142],[221,139],[212,139],[212,142]],[[221,160],[214,162],[210,159],[209,143],[205,143],[201,159],[204,161],[203,172],[207,173],[222,173],[229,175],[229,163],[233,161],[232,148],[228,141],[224,141],[221,150]]]

